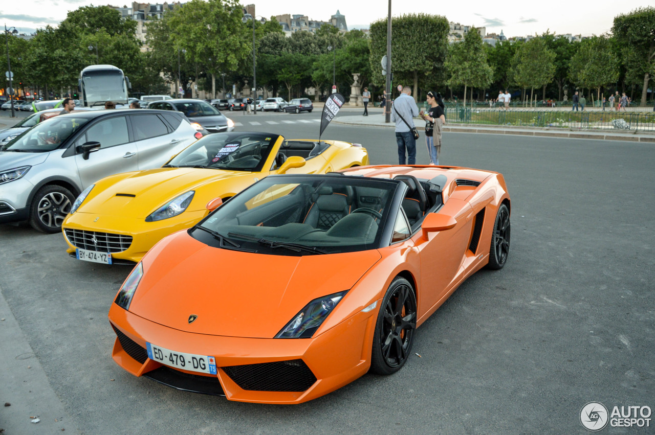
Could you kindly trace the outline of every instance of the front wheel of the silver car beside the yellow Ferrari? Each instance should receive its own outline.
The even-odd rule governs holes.
[[[29,209],[29,224],[35,230],[54,234],[62,231],[62,222],[75,201],[73,193],[62,186],[48,184],[40,188]]]

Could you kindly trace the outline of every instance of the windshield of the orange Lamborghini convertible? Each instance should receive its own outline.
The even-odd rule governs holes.
[[[222,241],[236,243],[238,249],[265,254],[376,249],[397,186],[362,177],[267,177],[221,205],[198,226]],[[192,235],[196,237],[195,232]],[[225,247],[225,243],[212,246]]]

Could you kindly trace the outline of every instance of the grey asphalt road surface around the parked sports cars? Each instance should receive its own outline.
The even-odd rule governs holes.
[[[315,112],[231,116],[243,130],[318,135]],[[333,123],[324,139],[362,143],[373,164],[397,162],[388,128]],[[419,140],[417,160],[427,163]],[[73,260],[60,234],[0,226],[0,315],[20,326],[0,322],[0,339],[6,348],[23,334],[10,348],[33,353],[13,359],[16,371],[0,368],[0,402],[31,406],[25,416],[0,408],[0,428],[55,433],[35,429],[47,420],[83,434],[582,434],[588,402],[653,409],[654,161],[643,143],[445,133],[441,164],[505,176],[507,265],[468,279],[419,328],[421,357],[398,374],[365,375],[299,406],[229,402],[124,372],[111,359],[107,311],[130,269]],[[27,364],[49,385],[16,387],[38,379]],[[43,409],[31,396],[39,393]],[[42,423],[29,423],[33,415]]]

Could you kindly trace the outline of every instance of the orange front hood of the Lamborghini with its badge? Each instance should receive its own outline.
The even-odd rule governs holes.
[[[130,311],[196,334],[273,338],[311,300],[348,290],[380,258],[376,250],[307,256],[230,251],[181,231],[144,258]],[[192,314],[198,318],[189,324]]]

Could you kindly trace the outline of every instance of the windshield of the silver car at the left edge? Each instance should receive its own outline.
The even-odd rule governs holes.
[[[47,152],[59,148],[66,139],[86,124],[86,118],[56,116],[40,122],[5,146],[5,151]]]

